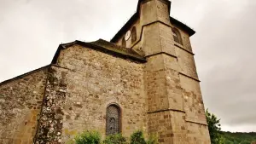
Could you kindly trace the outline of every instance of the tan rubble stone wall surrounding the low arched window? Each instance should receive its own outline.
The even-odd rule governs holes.
[[[61,51],[58,65],[68,69],[62,141],[84,130],[105,135],[106,108],[112,103],[121,108],[125,136],[147,131],[143,64],[74,45]]]

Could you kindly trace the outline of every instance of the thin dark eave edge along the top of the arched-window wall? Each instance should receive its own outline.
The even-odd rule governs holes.
[[[101,46],[97,46],[97,45],[92,44],[92,43],[85,43],[85,42],[76,40],[73,43],[61,44],[59,46],[59,48],[57,49],[57,51],[55,53],[55,56],[54,56],[53,60],[51,61],[51,64],[56,64],[57,63],[57,60],[58,60],[58,57],[60,55],[61,49],[67,49],[68,47],[73,46],[74,44],[79,44],[79,45],[87,47],[89,49],[98,50],[98,51],[101,51],[103,53],[113,55],[113,56],[119,56],[120,58],[124,58],[124,59],[135,60],[135,61],[143,62],[143,63],[147,62],[147,60],[145,60],[143,58],[138,58],[138,57],[135,57],[135,56],[132,56],[132,55],[121,54],[121,53],[118,53],[118,52],[113,51],[111,49],[105,49],[105,48],[102,48]]]

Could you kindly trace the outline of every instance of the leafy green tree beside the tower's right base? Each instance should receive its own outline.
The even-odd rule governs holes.
[[[218,119],[214,114],[206,112],[207,115],[207,124],[208,124],[208,129],[211,137],[211,142],[212,144],[223,144],[224,140],[221,135],[221,128],[220,128],[220,119]]]

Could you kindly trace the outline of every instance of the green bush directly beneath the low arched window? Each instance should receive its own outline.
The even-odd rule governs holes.
[[[121,134],[108,135],[103,141],[104,144],[127,144],[125,137]]]

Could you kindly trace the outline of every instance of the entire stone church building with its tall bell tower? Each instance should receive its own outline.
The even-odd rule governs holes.
[[[84,130],[136,130],[209,144],[189,37],[168,0],[139,0],[110,42],[61,44],[49,66],[0,84],[0,143],[65,143]]]

